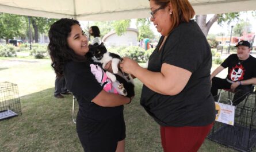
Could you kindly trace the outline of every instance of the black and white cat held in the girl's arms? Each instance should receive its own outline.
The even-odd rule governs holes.
[[[93,54],[93,60],[95,62],[101,63],[102,67],[105,67],[109,61],[112,61],[113,73],[106,71],[106,75],[113,82],[117,80],[123,84],[124,88],[127,90],[127,96],[131,97],[135,95],[134,84],[131,75],[122,72],[118,67],[121,61],[121,57],[118,54],[108,52],[103,42],[100,45],[98,43],[89,45],[89,51],[91,54]]]

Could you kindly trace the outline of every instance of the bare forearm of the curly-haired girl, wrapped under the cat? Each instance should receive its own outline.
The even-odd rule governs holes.
[[[131,98],[126,96],[108,93],[102,89],[100,93],[92,100],[95,104],[102,107],[116,107],[131,102]]]

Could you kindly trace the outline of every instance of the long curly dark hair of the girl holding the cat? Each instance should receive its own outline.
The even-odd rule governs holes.
[[[67,38],[70,36],[71,26],[79,25],[77,20],[62,18],[51,25],[49,29],[48,50],[52,60],[52,68],[58,77],[63,76],[64,64],[67,61],[82,61],[74,50],[68,46]]]

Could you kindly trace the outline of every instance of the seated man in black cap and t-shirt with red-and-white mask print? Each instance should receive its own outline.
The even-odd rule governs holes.
[[[250,55],[250,43],[240,41],[235,46],[236,54],[231,54],[211,74],[212,96],[217,100],[218,89],[230,89],[236,92],[233,99],[233,106],[238,105],[251,91],[252,84],[256,84],[256,58]],[[226,79],[215,77],[218,73],[228,68]]]

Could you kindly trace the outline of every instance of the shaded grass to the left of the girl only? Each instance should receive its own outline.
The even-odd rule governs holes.
[[[22,115],[0,121],[0,151],[82,151],[71,120],[72,96],[54,88],[21,96]]]

